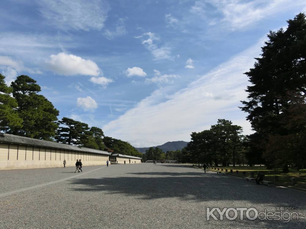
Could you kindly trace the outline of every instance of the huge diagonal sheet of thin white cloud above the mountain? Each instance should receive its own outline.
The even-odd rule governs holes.
[[[253,66],[262,45],[263,40],[175,93],[169,94],[165,87],[156,90],[104,125],[103,131],[141,147],[189,141],[193,131],[209,129],[218,118],[241,125],[244,134],[252,133],[246,114],[238,106],[246,99],[244,90],[249,85],[243,73]]]

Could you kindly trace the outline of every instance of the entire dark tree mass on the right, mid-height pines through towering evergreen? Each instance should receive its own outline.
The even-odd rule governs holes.
[[[182,151],[186,162],[288,165],[306,169],[306,20],[298,14],[288,28],[270,31],[261,57],[244,73],[251,85],[248,101],[241,101],[254,133],[219,119],[211,129],[191,134]]]

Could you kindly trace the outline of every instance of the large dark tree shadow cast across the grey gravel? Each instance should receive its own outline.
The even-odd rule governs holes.
[[[142,176],[142,175],[151,176]],[[306,206],[304,193],[280,190],[274,187],[256,185],[229,176],[217,174],[188,173],[132,173],[127,177],[76,178],[69,180],[75,184],[71,191],[103,192],[101,194],[122,193],[140,199],[177,197],[195,201],[243,201],[267,206]],[[154,175],[165,175],[154,177]],[[233,206],[232,206],[233,207]],[[239,207],[239,206],[238,206]]]

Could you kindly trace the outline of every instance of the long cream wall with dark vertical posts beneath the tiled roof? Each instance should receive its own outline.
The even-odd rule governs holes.
[[[106,165],[109,155],[0,143],[0,169],[32,169],[86,165]],[[132,163],[132,161],[131,161]]]

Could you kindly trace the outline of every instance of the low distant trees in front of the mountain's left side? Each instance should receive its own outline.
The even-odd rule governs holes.
[[[181,151],[167,151],[164,153],[162,149],[156,147],[155,149],[153,147],[150,147],[148,150],[146,150],[146,153],[143,155],[143,160],[154,160],[154,161],[179,161],[181,162]]]

